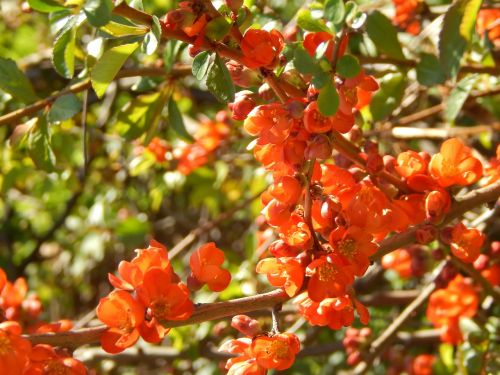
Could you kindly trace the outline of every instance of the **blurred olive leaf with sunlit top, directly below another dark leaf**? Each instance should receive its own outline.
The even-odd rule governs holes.
[[[406,87],[402,73],[389,73],[380,80],[380,89],[373,95],[370,111],[374,121],[382,120],[392,114],[401,104]]]

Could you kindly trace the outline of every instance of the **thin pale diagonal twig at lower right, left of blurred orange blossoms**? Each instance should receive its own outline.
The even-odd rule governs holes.
[[[446,261],[442,261],[435,269],[433,273],[432,282],[425,286],[420,294],[415,298],[402,312],[399,316],[393,320],[393,322],[378,336],[367,349],[368,355],[363,362],[359,363],[354,369],[355,375],[365,374],[372,366],[373,361],[382,354],[382,351],[387,347],[387,345],[395,338],[398,330],[406,323],[406,321],[417,311],[424,302],[430,297],[430,295],[436,290],[437,284],[436,279],[441,274]]]

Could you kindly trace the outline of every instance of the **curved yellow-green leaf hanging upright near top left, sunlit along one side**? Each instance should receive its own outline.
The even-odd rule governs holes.
[[[52,64],[64,78],[75,74],[75,36],[77,17],[71,17],[57,33],[52,51]]]

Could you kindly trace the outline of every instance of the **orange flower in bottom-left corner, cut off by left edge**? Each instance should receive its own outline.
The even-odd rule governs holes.
[[[17,322],[0,323],[0,374],[22,375],[29,362],[31,343],[21,337]]]

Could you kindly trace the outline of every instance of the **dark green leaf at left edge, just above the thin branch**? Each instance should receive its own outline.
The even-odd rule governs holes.
[[[11,59],[0,57],[0,89],[24,103],[37,99],[30,81]]]

